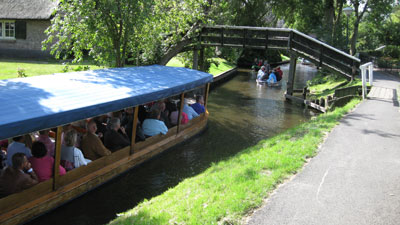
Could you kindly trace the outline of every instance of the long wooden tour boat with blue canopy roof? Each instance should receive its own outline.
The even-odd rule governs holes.
[[[134,107],[136,128],[139,105],[179,96],[183,106],[185,93],[197,88],[204,88],[207,109],[212,79],[201,71],[152,65],[0,80],[0,140],[56,129],[53,177],[1,198],[0,224],[26,222],[198,134],[206,128],[208,112],[143,142],[135,143],[133,129],[130,146],[59,176],[63,125]]]

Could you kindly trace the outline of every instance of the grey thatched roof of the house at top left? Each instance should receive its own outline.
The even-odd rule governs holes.
[[[0,0],[0,19],[50,19],[58,1]]]

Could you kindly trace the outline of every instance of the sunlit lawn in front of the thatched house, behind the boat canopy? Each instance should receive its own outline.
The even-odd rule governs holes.
[[[69,65],[68,71],[76,70],[78,67],[89,66],[90,69],[99,69],[91,64]],[[18,77],[18,68],[23,69],[27,76],[46,75],[53,73],[63,73],[65,65],[55,60],[53,61],[0,61],[0,80]]]

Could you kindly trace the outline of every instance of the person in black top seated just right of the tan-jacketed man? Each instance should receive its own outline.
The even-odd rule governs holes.
[[[104,135],[104,145],[111,152],[115,152],[130,145],[125,128],[121,127],[119,118],[111,118],[109,128],[110,129],[108,129]]]

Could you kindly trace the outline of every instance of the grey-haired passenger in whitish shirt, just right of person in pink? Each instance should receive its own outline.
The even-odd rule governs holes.
[[[61,160],[66,170],[86,166],[91,162],[91,160],[83,157],[82,151],[79,148],[75,147],[77,137],[78,135],[74,129],[67,131],[64,135],[64,145],[61,147]]]

